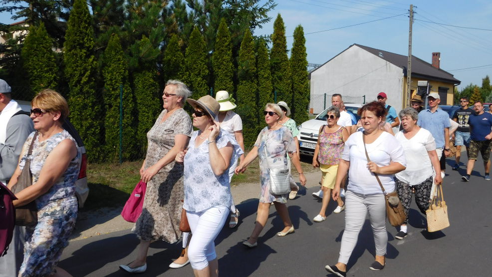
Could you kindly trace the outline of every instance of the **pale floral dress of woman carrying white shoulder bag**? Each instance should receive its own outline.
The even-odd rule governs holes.
[[[294,138],[290,130],[282,126],[278,130],[263,128],[254,143],[258,148],[261,203],[287,203],[288,194],[270,194],[270,168],[287,168],[287,153],[296,151]],[[269,168],[269,167],[270,168]]]

